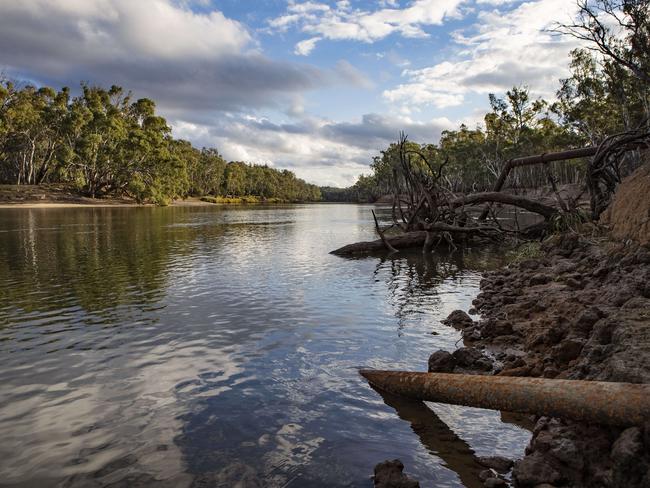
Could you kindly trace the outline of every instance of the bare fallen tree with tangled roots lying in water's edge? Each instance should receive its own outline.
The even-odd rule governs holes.
[[[354,255],[381,250],[395,253],[410,247],[422,247],[423,252],[429,252],[438,244],[456,247],[455,242],[467,242],[477,237],[490,240],[504,239],[513,234],[523,238],[540,237],[553,222],[562,219],[574,222],[584,218],[578,210],[577,198],[565,200],[560,196],[549,166],[551,162],[576,158],[593,157],[587,166],[585,186],[590,194],[592,217],[596,219],[609,203],[622,176],[629,172],[623,164],[628,155],[650,147],[650,133],[643,123],[635,131],[605,139],[599,146],[511,159],[503,166],[493,191],[466,195],[454,194],[445,186],[446,162],[433,164],[422,152],[410,149],[406,142],[406,135],[400,134],[399,161],[392,175],[392,224],[380,227],[373,211],[380,239],[350,244],[333,251],[333,254]],[[413,155],[423,164],[415,164]],[[555,204],[503,191],[513,170],[531,165],[546,166]],[[487,205],[479,215],[469,211],[470,207],[483,204]],[[505,229],[494,213],[494,204],[537,214],[543,221],[516,230]],[[388,236],[386,232],[391,229],[402,234]]]

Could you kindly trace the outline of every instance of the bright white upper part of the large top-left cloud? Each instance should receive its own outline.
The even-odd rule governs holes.
[[[0,25],[28,20],[40,27],[37,41],[61,33],[60,49],[75,46],[89,56],[204,57],[239,52],[251,41],[247,30],[221,12],[194,13],[167,0],[22,0],[3,2]],[[22,22],[20,22],[22,23]],[[21,36],[22,37],[22,36]]]

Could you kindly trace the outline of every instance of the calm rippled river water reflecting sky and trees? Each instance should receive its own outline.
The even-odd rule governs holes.
[[[528,431],[357,371],[458,347],[439,321],[498,257],[328,254],[370,208],[0,209],[0,485],[370,487],[399,457],[481,486]]]

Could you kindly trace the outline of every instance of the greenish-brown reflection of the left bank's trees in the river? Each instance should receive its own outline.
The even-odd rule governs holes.
[[[187,254],[198,234],[195,227],[173,226],[184,210],[6,212],[0,221],[0,309],[81,307],[101,315],[120,305],[157,302],[170,259]]]

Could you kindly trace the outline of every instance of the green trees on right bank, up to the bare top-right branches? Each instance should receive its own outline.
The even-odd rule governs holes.
[[[571,75],[556,100],[533,99],[525,86],[489,96],[490,111],[474,128],[443,131],[437,144],[408,142],[410,164],[433,173],[444,166],[456,192],[490,189],[506,162],[519,156],[600,144],[606,137],[650,126],[650,0],[578,0],[579,16],[557,31],[586,41],[571,52]],[[397,136],[397,133],[396,133]],[[327,189],[326,199],[373,201],[387,194],[399,164],[391,144],[349,188]],[[638,155],[637,155],[638,156]],[[628,157],[637,157],[634,154]],[[558,183],[583,181],[585,161],[554,165]],[[544,167],[520,168],[512,183],[546,184]]]

